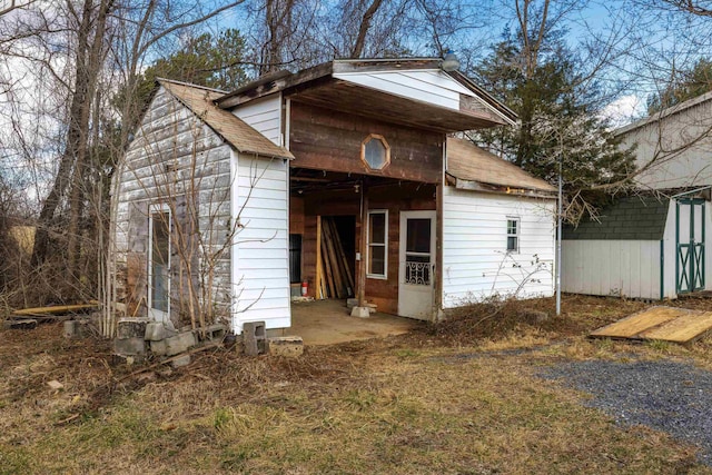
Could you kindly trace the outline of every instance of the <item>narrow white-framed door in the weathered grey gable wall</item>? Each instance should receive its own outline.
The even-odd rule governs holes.
[[[170,314],[170,210],[152,207],[148,218],[148,316],[167,321]]]

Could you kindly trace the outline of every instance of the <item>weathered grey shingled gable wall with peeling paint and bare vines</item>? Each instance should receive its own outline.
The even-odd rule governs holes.
[[[127,304],[129,315],[147,315],[149,207],[161,202],[168,205],[175,220],[172,263],[180,263],[176,226],[181,226],[192,235],[187,236],[182,251],[190,253],[185,264],[190,261],[194,267],[194,284],[198,284],[200,271],[209,270],[214,276],[218,311],[229,308],[229,251],[217,255],[230,224],[229,160],[229,146],[160,88],[116,176],[117,300]],[[204,245],[202,256],[198,246],[194,246],[198,238]],[[205,256],[211,256],[211,261],[201,258]],[[187,317],[185,308],[181,315],[187,285],[185,267],[171,266],[170,318],[177,325],[184,324]]]

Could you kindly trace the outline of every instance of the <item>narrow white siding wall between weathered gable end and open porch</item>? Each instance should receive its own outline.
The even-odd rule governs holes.
[[[246,321],[289,327],[288,164],[239,155],[236,174],[233,328],[241,333]]]

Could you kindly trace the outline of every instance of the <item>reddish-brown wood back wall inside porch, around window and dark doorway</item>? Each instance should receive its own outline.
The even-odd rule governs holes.
[[[366,279],[366,299],[378,305],[378,311],[398,311],[398,259],[400,239],[400,211],[434,210],[435,186],[402,182],[400,185],[370,186],[367,190],[369,209],[388,210],[388,278]],[[301,258],[304,275],[309,283],[310,296],[315,296],[316,279],[316,217],[354,216],[356,250],[360,249],[360,196],[353,190],[310,194],[304,198],[304,240]],[[295,219],[293,209],[293,220]],[[298,218],[297,218],[298,219]],[[365,259],[365,256],[364,256]],[[350,263],[358,275],[359,263]]]

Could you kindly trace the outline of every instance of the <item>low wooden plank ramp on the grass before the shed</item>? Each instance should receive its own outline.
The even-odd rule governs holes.
[[[691,343],[712,330],[712,311],[652,307],[592,331],[591,338]]]

